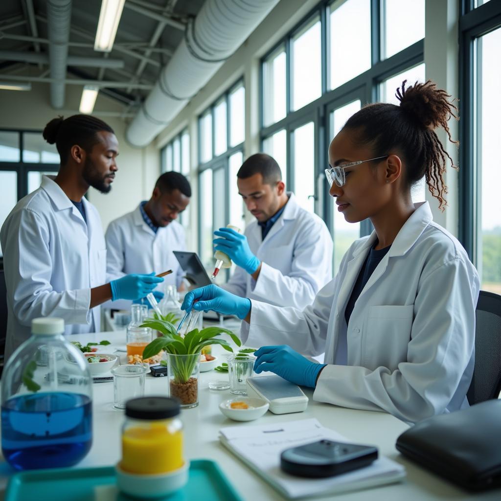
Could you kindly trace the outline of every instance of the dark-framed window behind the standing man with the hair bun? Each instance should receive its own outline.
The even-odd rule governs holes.
[[[0,227],[18,200],[40,186],[43,174],[57,174],[59,162],[56,146],[42,132],[0,130]]]

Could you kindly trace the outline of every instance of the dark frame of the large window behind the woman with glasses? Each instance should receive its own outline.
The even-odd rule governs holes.
[[[328,145],[332,138],[329,137],[329,113],[328,107],[332,102],[341,102],[346,96],[359,92],[362,99],[362,106],[365,103],[377,102],[380,94],[380,83],[387,78],[396,75],[403,70],[424,63],[424,39],[406,47],[402,51],[387,59],[381,57],[382,37],[382,9],[381,0],[370,0],[371,10],[371,68],[361,73],[357,77],[345,82],[336,89],[328,90],[330,76],[329,57],[329,36],[330,36],[330,8],[336,0],[322,0],[317,4],[296,26],[294,26],[284,37],[267,51],[260,59],[259,75],[259,126],[260,126],[260,148],[263,150],[264,141],[281,129],[286,130],[287,165],[281,168],[287,169],[288,189],[294,191],[292,153],[293,139],[292,133],[297,124],[302,120],[309,121],[305,117],[314,117],[315,124],[315,212],[324,219],[329,231],[333,231],[333,220],[330,216],[329,203],[332,204],[329,195],[329,188],[324,182],[324,187],[319,176],[323,175],[323,166],[328,164]],[[292,111],[292,74],[291,74],[291,45],[296,34],[301,32],[316,17],[321,22],[321,49],[322,49],[322,95],[315,101],[305,105],[303,108]],[[265,126],[265,81],[264,64],[270,57],[285,49],[286,55],[286,116],[273,124]],[[360,226],[360,236],[369,234],[372,231],[370,221],[362,221]]]

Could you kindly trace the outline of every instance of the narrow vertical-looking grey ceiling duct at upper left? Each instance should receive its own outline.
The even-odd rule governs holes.
[[[51,104],[64,106],[68,42],[70,40],[71,0],[48,0],[49,61],[51,68]]]

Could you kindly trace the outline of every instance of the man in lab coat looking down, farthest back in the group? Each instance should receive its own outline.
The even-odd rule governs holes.
[[[186,248],[184,228],[176,219],[188,206],[190,196],[190,184],[182,174],[164,172],[148,201],[110,222],[106,230],[108,274],[119,278],[128,273],[172,270],[165,284],[179,289],[183,271],[172,251]]]

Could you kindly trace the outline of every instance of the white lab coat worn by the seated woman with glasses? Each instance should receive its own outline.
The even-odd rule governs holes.
[[[376,238],[355,241],[336,278],[303,311],[253,301],[243,341],[288,344],[308,355],[325,350],[329,365],[313,395],[321,402],[410,422],[468,406],[477,271],[457,239],[433,222],[428,203],[416,204],[346,326],[346,304]],[[333,365],[343,331],[348,365]]]

